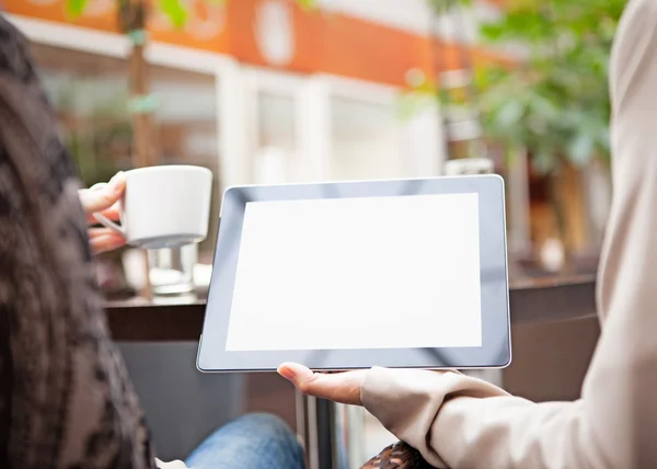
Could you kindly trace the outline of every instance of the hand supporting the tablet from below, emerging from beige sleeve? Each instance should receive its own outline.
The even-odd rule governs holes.
[[[312,373],[296,363],[284,363],[278,367],[278,374],[290,380],[304,394],[343,404],[361,405],[360,388],[367,369],[325,374]]]

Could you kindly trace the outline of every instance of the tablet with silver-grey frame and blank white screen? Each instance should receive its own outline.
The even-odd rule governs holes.
[[[509,364],[498,175],[224,192],[201,371]]]

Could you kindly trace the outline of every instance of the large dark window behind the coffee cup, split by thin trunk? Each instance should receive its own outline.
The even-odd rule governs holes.
[[[32,50],[84,183],[107,181],[117,171],[130,169],[126,60],[41,44]],[[215,174],[210,229],[199,247],[199,261],[209,263],[221,194],[216,78],[159,66],[150,66],[149,72],[157,102],[153,144],[158,164],[196,164]]]

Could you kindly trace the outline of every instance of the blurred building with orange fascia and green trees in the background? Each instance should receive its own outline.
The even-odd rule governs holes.
[[[212,170],[200,266],[229,185],[434,176],[485,159],[506,180],[511,283],[596,271],[624,3],[0,0],[87,185],[148,164]],[[108,298],[139,288],[126,258],[99,264]]]

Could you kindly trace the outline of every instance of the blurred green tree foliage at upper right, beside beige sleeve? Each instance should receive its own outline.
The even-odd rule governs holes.
[[[527,148],[543,173],[608,158],[608,66],[625,2],[517,0],[483,25],[484,45],[515,44],[526,56],[517,66],[476,70],[485,134]]]

